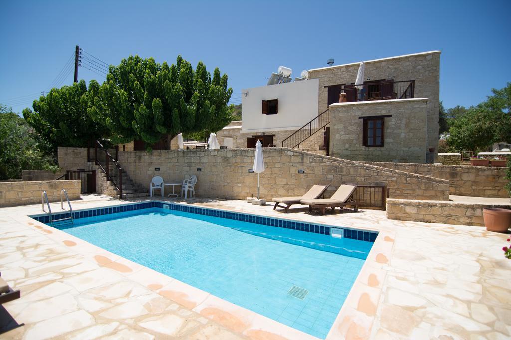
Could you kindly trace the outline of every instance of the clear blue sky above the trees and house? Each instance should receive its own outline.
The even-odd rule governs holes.
[[[182,55],[229,76],[232,102],[279,65],[303,69],[442,50],[440,100],[470,106],[511,81],[511,1],[3,1],[0,102],[21,112],[75,45],[109,64]],[[360,14],[357,14],[360,13]],[[94,60],[94,59],[92,59]],[[58,84],[71,84],[64,72]],[[67,75],[67,76],[66,76]],[[80,68],[79,78],[105,78]]]

